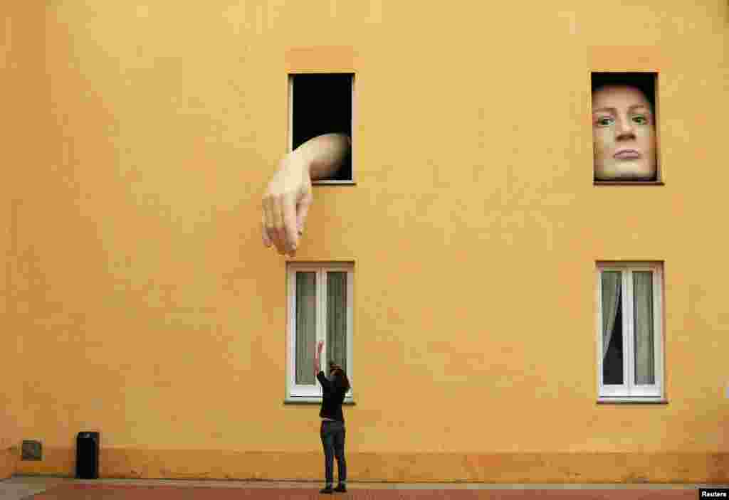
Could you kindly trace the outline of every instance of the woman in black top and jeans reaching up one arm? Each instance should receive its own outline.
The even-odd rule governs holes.
[[[347,491],[347,462],[344,459],[344,415],[342,413],[342,402],[344,394],[349,390],[349,379],[340,365],[329,362],[329,378],[324,376],[319,365],[321,349],[324,348],[324,341],[319,341],[314,356],[314,373],[321,384],[321,445],[324,446],[324,474],[327,484],[319,493],[332,493],[333,491]],[[337,457],[339,469],[339,485],[332,489],[334,484],[334,457]]]

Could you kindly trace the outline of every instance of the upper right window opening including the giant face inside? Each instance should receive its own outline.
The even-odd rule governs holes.
[[[660,183],[656,73],[590,74],[593,179]]]

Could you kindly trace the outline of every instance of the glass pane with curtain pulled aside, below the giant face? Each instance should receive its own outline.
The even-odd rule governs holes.
[[[620,271],[604,271],[602,278],[602,383],[623,384],[623,308]]]

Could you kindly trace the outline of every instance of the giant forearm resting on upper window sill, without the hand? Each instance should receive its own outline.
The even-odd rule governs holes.
[[[350,148],[345,134],[318,135],[287,154],[286,159],[308,167],[311,180],[324,179],[340,169]]]

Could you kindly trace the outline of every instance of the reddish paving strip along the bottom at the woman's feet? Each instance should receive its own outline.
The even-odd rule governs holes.
[[[32,500],[238,500],[238,499],[352,499],[352,500],[678,500],[698,499],[698,489],[682,490],[382,490],[350,488],[347,493],[321,495],[316,488],[212,488],[166,485],[64,484],[28,497]]]

